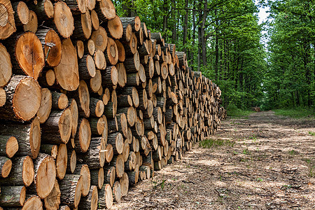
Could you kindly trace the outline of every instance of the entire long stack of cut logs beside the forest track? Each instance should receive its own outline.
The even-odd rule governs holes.
[[[221,90],[111,0],[0,8],[0,209],[109,209],[220,124]]]

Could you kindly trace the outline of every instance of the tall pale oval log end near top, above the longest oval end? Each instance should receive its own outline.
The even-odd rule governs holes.
[[[59,34],[69,38],[73,34],[74,20],[70,8],[63,1],[54,6],[54,22]]]

